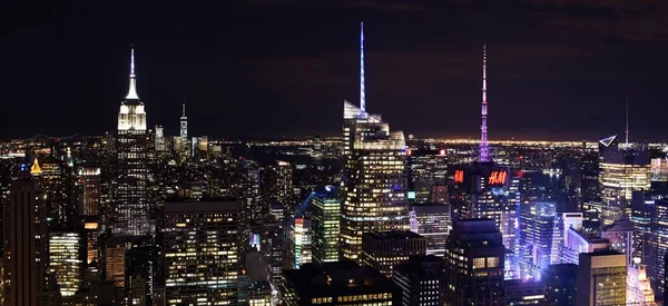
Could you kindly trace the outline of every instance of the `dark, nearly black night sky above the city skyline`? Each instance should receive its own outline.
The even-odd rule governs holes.
[[[363,20],[367,110],[392,129],[478,137],[487,43],[490,139],[621,135],[629,95],[631,140],[668,140],[666,0],[13,2],[3,139],[115,130],[131,43],[151,127],[175,135],[186,102],[194,136],[338,135]]]

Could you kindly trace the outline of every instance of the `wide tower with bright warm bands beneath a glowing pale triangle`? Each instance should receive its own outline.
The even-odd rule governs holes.
[[[603,208],[601,221],[612,224],[622,215],[631,215],[632,193],[649,190],[651,167],[645,149],[619,148],[617,136],[599,140],[599,180]]]

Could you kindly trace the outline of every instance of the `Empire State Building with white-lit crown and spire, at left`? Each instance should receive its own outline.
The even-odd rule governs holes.
[[[135,50],[130,56],[130,87],[118,112],[116,150],[118,157],[117,190],[112,230],[119,236],[150,233],[148,204],[149,139],[144,102],[137,95]]]

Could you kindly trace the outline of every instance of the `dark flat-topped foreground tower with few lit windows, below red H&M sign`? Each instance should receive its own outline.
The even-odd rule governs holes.
[[[445,305],[505,305],[504,259],[494,220],[454,221],[445,254]]]

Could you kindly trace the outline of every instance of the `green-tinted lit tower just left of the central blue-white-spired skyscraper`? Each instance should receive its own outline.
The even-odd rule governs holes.
[[[313,261],[338,261],[341,234],[341,190],[327,186],[312,199]]]

